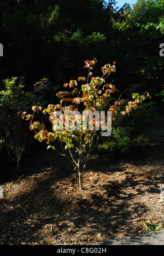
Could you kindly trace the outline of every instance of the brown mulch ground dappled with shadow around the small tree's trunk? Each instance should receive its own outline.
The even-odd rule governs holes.
[[[57,154],[27,160],[24,176],[0,183],[0,245],[93,245],[144,234],[148,223],[164,228],[163,132],[160,120],[126,159],[93,155],[82,192],[77,171]]]

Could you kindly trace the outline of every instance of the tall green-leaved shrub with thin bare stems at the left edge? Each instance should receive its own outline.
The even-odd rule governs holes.
[[[26,124],[17,115],[20,109],[29,109],[32,94],[24,91],[24,85],[17,78],[6,79],[4,90],[0,91],[0,148],[5,165],[13,169],[13,161],[20,171],[21,155],[25,151]]]

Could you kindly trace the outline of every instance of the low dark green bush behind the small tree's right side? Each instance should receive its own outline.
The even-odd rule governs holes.
[[[154,102],[142,103],[130,116],[126,115],[112,127],[112,135],[102,138],[97,146],[98,153],[104,160],[113,155],[125,155],[131,148],[146,143],[144,132],[149,130],[150,124],[159,118]]]

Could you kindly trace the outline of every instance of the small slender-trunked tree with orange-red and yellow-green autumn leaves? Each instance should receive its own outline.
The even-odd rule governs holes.
[[[46,130],[39,121],[33,121],[34,113],[19,113],[23,119],[30,120],[30,130],[36,133],[35,139],[45,141],[48,149],[65,156],[77,168],[80,190],[83,190],[82,174],[99,137],[109,136],[112,123],[123,115],[129,115],[133,109],[137,109],[138,103],[150,97],[147,92],[144,95],[133,94],[134,100],[127,104],[119,98],[106,112],[103,111],[107,107],[107,99],[118,92],[113,84],[106,83],[110,73],[115,73],[116,69],[115,62],[113,65],[107,64],[101,68],[102,77],[93,77],[92,69],[96,62],[96,59],[85,61],[84,68],[89,69],[87,77],[78,77],[78,82],[71,80],[63,85],[69,89],[57,92],[58,104],[49,104],[43,111],[39,106],[32,107],[33,112],[42,111],[49,115],[52,131]],[[61,150],[55,147],[56,141],[60,143]],[[73,154],[73,150],[76,154]]]

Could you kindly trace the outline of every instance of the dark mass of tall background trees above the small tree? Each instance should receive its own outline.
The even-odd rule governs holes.
[[[164,57],[159,55],[159,46],[164,38],[155,26],[144,26],[159,22],[163,10],[152,0],[138,0],[133,9],[129,4],[118,9],[115,3],[0,1],[0,42],[4,47],[0,58],[1,89],[3,79],[23,76],[26,91],[31,92],[33,84],[44,77],[50,79],[54,91],[84,75],[84,61],[95,57],[96,75],[101,75],[101,66],[116,62],[110,82],[123,92],[122,96],[131,98],[134,91],[148,91],[160,109],[162,99],[156,94],[163,88]],[[152,104],[151,109],[148,106],[144,113],[147,117],[154,113]]]

